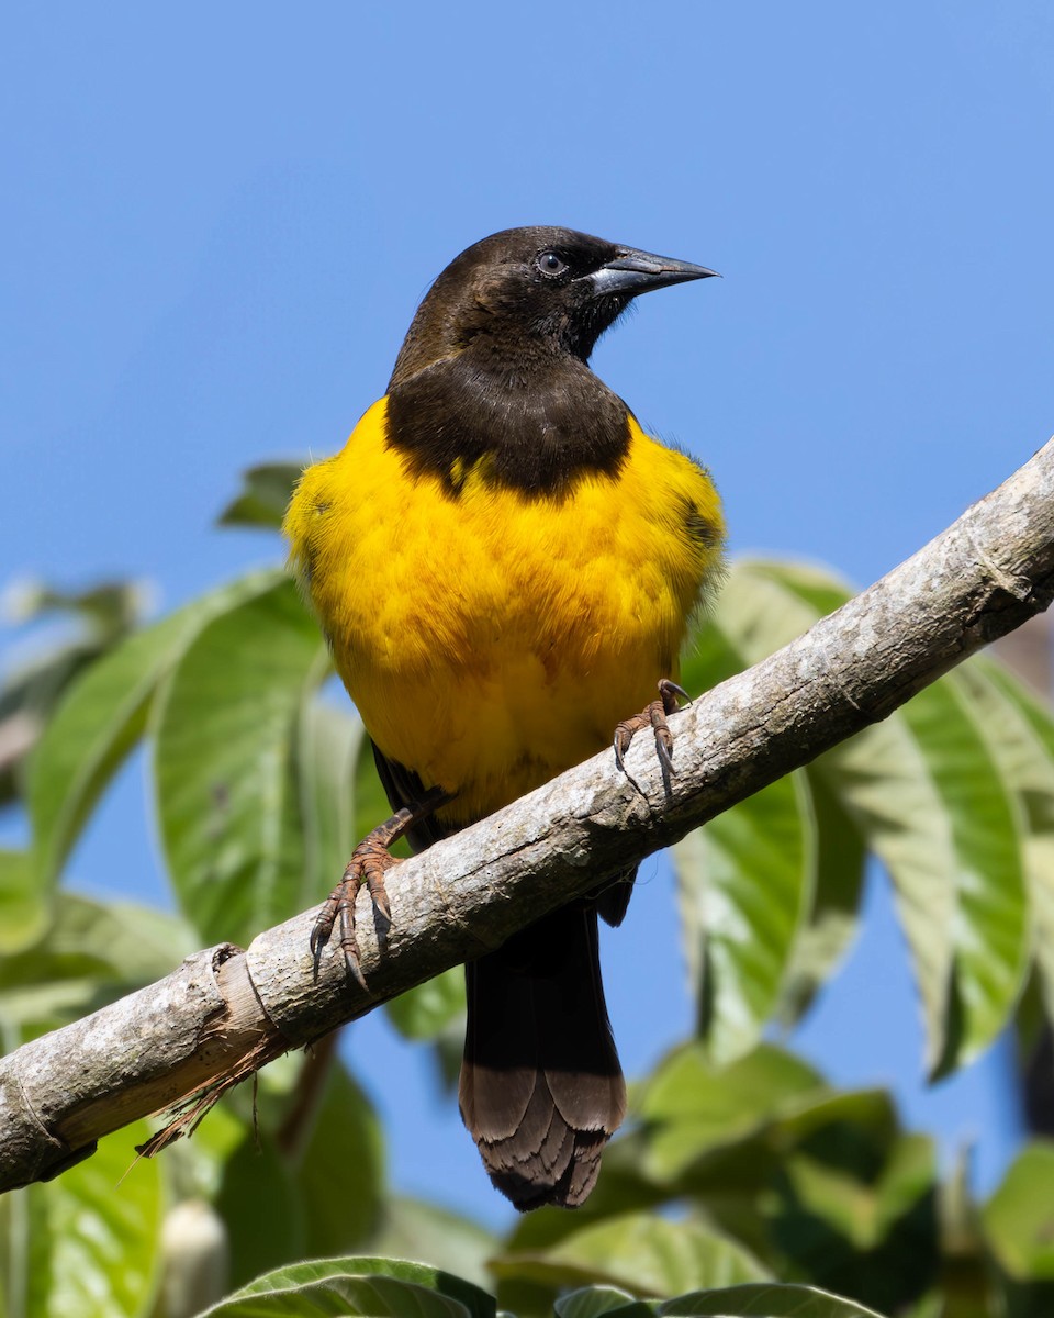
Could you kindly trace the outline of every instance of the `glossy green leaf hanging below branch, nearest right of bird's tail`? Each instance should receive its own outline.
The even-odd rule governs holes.
[[[700,1033],[717,1062],[772,1015],[812,902],[814,829],[802,774],[772,783],[673,847]]]

